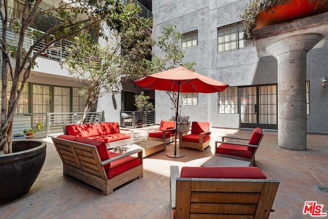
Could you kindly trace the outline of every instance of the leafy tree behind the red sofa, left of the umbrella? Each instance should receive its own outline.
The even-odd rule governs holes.
[[[140,72],[146,71],[142,63],[151,56],[151,21],[139,18],[139,12],[140,8],[134,5],[125,8],[124,14],[129,16],[124,18],[120,31],[111,30],[105,47],[93,42],[90,35],[74,38],[65,63],[71,75],[87,84],[80,92],[86,96],[82,124],[97,99],[119,91],[124,82],[120,76],[139,77]]]

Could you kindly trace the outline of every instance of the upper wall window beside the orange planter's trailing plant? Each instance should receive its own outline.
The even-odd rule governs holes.
[[[247,47],[247,41],[243,39],[242,26],[232,24],[217,29],[218,52],[227,52]]]

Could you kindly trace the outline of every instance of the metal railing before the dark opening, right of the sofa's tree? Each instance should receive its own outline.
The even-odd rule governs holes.
[[[155,111],[120,111],[121,127],[147,127],[155,125]]]

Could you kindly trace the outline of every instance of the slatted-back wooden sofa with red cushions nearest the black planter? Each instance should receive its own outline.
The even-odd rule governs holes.
[[[83,137],[52,137],[63,161],[63,174],[83,181],[109,195],[113,189],[143,176],[142,150],[110,152],[104,142]],[[137,153],[137,156],[131,156]]]

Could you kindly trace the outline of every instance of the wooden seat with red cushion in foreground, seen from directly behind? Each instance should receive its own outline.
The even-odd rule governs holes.
[[[171,218],[269,218],[278,186],[257,167],[171,166]]]

